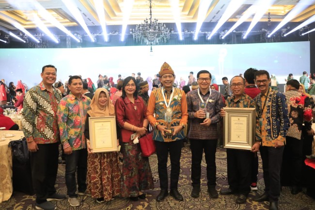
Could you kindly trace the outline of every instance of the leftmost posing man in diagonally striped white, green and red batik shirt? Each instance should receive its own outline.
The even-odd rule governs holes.
[[[31,152],[31,175],[36,194],[35,208],[54,210],[50,200],[63,200],[65,195],[56,194],[55,182],[58,171],[59,129],[57,106],[61,92],[53,86],[57,69],[45,65],[42,81],[32,87],[24,97],[22,125],[29,151]]]

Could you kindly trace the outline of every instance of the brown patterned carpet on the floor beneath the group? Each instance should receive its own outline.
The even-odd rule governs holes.
[[[226,172],[226,152],[225,149],[217,150],[217,190],[228,187]],[[116,198],[110,202],[98,204],[89,196],[79,196],[82,203],[81,206],[71,207],[68,201],[56,202],[58,210],[268,210],[268,202],[257,203],[252,200],[257,193],[262,194],[264,189],[264,180],[262,179],[261,159],[259,158],[259,181],[258,191],[252,191],[245,204],[236,204],[235,195],[220,195],[217,199],[210,199],[207,193],[205,161],[202,162],[202,188],[199,198],[192,198],[190,165],[191,152],[189,146],[185,146],[182,150],[181,157],[181,173],[179,178],[179,192],[183,195],[184,201],[178,202],[173,197],[168,196],[162,202],[156,202],[156,196],[159,193],[159,182],[157,175],[157,157],[150,157],[150,164],[155,180],[155,190],[146,191],[147,198],[145,200],[130,201],[129,199]],[[168,163],[170,166],[170,163]],[[170,168],[170,167],[169,167]],[[66,194],[64,180],[64,165],[60,164],[58,169],[58,177],[56,181],[56,189],[59,193]],[[303,189],[305,190],[305,189]],[[11,199],[0,203],[0,210],[34,210],[35,196],[30,196],[20,192],[14,192]],[[55,202],[55,201],[53,201]],[[288,187],[283,187],[279,201],[281,210],[315,210],[315,200],[304,193],[292,195]]]

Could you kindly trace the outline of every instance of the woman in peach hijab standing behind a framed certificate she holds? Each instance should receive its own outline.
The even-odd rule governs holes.
[[[88,148],[87,191],[96,198],[97,203],[112,200],[120,194],[121,175],[118,161],[118,152],[93,153],[90,145],[89,117],[114,116],[115,108],[112,105],[108,91],[98,88],[91,101],[91,109],[87,112],[84,135]]]

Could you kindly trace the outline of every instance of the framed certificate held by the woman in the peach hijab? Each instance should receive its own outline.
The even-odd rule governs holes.
[[[116,117],[90,117],[90,145],[94,153],[118,151]]]

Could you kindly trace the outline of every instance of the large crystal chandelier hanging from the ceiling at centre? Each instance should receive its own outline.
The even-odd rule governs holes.
[[[165,24],[158,22],[156,18],[152,20],[152,0],[150,0],[150,18],[146,18],[141,25],[137,25],[132,31],[133,39],[138,42],[144,42],[146,45],[166,43],[170,39],[170,30],[165,27]]]

